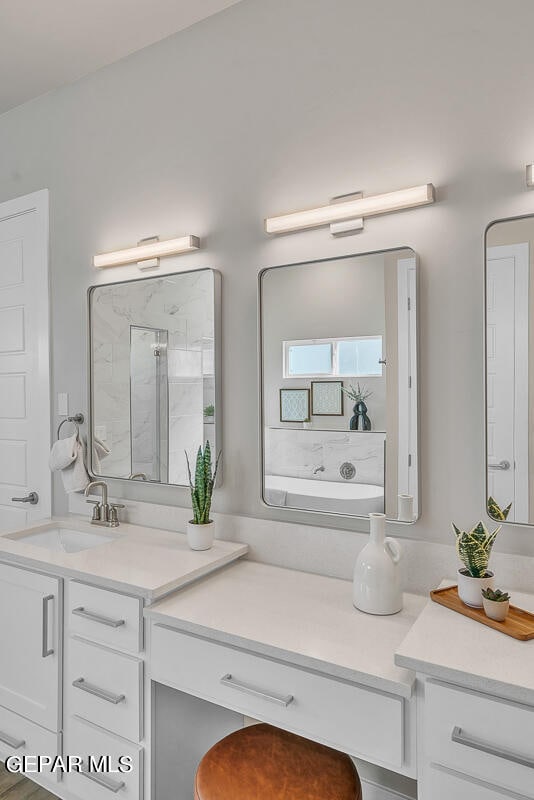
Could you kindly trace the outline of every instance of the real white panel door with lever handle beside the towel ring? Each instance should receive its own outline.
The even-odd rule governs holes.
[[[0,531],[51,513],[48,306],[43,190],[0,204]]]

